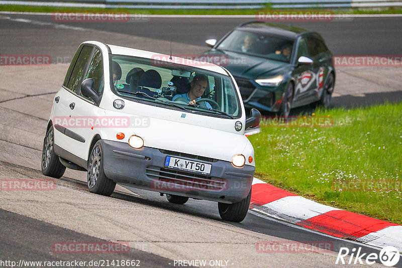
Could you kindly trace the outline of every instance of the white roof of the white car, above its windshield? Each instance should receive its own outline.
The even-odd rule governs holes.
[[[127,55],[127,56],[133,56],[133,57],[141,57],[141,58],[147,58],[147,59],[155,59],[155,60],[160,60],[160,61],[167,61],[171,63],[178,63],[186,66],[191,66],[194,68],[199,68],[199,69],[204,69],[216,73],[220,73],[223,75],[228,76],[228,73],[224,68],[222,68],[219,65],[213,64],[213,63],[207,63],[207,62],[199,62],[195,60],[183,60],[183,58],[176,57],[172,55],[172,59],[169,59],[170,55],[162,54],[162,53],[156,53],[156,52],[151,52],[151,51],[146,51],[146,50],[140,50],[140,49],[134,49],[134,48],[127,48],[127,47],[121,47],[121,46],[115,46],[115,45],[107,45],[111,49],[112,54],[114,55]],[[185,55],[183,55],[185,56]],[[196,57],[199,55],[188,55],[192,57]]]

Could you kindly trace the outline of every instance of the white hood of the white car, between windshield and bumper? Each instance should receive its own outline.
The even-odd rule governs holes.
[[[130,115],[130,106],[142,106],[136,110],[136,115]],[[148,107],[147,107],[148,106]],[[148,108],[148,110],[147,110]],[[152,109],[153,108],[153,109]],[[227,128],[234,130],[234,123],[241,119],[224,119],[201,116],[182,111],[168,110],[162,113],[160,108],[127,101],[126,113],[104,110],[108,117],[130,117],[133,124],[138,119],[137,126],[129,128],[115,128],[108,133],[123,132],[126,137],[120,142],[128,142],[131,135],[140,136],[144,146],[180,152],[191,155],[210,157],[223,161],[231,161],[232,157],[242,154],[246,149],[248,139],[240,132],[228,132]],[[159,113],[158,113],[159,112]],[[133,112],[133,114],[135,114]],[[145,119],[145,121],[143,121]],[[223,126],[220,126],[223,125]],[[219,127],[220,126],[220,127]],[[219,127],[220,129],[217,129]],[[101,131],[107,131],[101,129]],[[101,137],[109,137],[108,133],[100,133]],[[111,137],[112,138],[112,137]],[[116,138],[112,138],[115,140]],[[118,141],[117,139],[115,141]],[[246,156],[248,158],[249,155]]]

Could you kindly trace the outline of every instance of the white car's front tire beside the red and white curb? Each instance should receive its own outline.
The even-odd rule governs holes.
[[[250,206],[251,189],[248,196],[233,204],[218,203],[219,215],[223,220],[241,222],[247,215]]]

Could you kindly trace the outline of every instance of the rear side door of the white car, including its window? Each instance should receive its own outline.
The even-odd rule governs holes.
[[[76,131],[76,122],[74,118],[71,117],[74,113],[75,104],[80,99],[77,92],[81,85],[92,50],[93,47],[87,45],[78,48],[67,71],[63,87],[55,97],[55,107],[52,118],[55,128],[55,144],[64,151],[78,157],[82,157],[80,149],[83,147],[83,141]],[[71,158],[69,160],[72,161]]]

